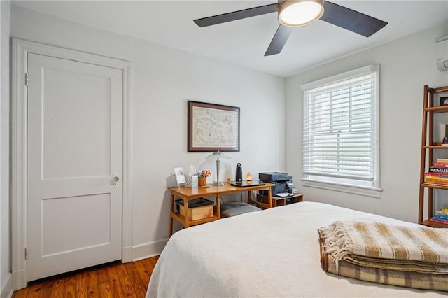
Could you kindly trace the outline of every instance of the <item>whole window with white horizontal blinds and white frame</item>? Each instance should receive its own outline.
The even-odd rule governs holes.
[[[302,90],[304,185],[379,197],[379,65]]]

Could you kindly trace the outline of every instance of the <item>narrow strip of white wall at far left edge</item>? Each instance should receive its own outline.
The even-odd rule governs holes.
[[[9,207],[10,3],[0,1],[0,297],[12,294]]]

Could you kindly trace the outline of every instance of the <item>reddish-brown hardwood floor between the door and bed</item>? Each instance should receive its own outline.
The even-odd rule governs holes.
[[[145,297],[158,256],[137,262],[114,262],[34,281],[13,298]]]

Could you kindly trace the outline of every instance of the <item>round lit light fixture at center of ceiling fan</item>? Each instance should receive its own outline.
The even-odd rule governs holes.
[[[279,5],[279,22],[287,27],[300,27],[323,15],[323,0],[285,0]]]

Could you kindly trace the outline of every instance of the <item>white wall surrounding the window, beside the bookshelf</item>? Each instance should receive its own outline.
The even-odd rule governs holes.
[[[321,201],[401,220],[418,220],[423,85],[448,85],[433,63],[433,41],[447,24],[298,73],[286,80],[286,171],[307,201]],[[381,199],[302,187],[300,85],[369,64],[381,65]]]

